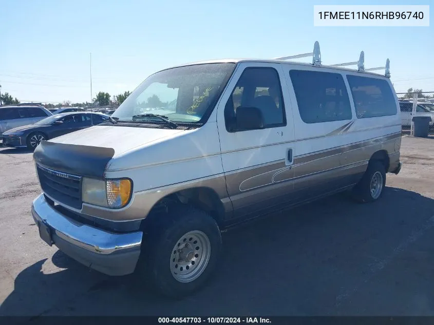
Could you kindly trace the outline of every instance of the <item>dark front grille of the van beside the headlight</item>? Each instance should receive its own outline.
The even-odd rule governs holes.
[[[81,209],[81,181],[82,177],[61,173],[36,164],[37,176],[42,190],[49,197],[59,203]]]

